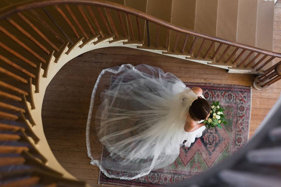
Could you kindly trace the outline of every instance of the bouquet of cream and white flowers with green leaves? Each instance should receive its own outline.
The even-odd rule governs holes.
[[[223,114],[223,111],[225,108],[221,108],[219,101],[216,103],[213,101],[213,104],[211,105],[212,110],[210,111],[210,117],[208,120],[204,120],[204,124],[207,129],[210,129],[211,127],[219,127],[222,128],[222,123],[227,124],[225,121],[225,115]]]

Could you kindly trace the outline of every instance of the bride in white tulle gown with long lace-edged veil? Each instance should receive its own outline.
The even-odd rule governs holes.
[[[95,115],[95,129],[106,151],[92,158],[90,121],[99,82],[102,104]],[[149,65],[124,64],[102,70],[92,91],[86,128],[90,164],[110,178],[136,179],[165,167],[202,136],[210,105],[199,87],[188,88],[172,73]]]

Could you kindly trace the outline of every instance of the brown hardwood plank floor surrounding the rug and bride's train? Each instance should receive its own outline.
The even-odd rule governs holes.
[[[281,1],[275,5],[274,49],[281,52]],[[42,120],[48,143],[61,165],[73,176],[91,186],[98,184],[99,169],[89,164],[85,145],[85,127],[90,96],[100,71],[130,63],[148,64],[172,72],[184,82],[237,84],[252,86],[255,75],[228,74],[226,70],[125,47],[110,47],[84,53],[68,62],[47,87]],[[252,90],[250,137],[281,92],[281,82],[262,91]],[[98,95],[98,93],[97,93]],[[98,103],[96,98],[95,107]],[[93,112],[94,113],[94,112]],[[99,157],[101,146],[91,136],[92,155]],[[112,186],[112,185],[104,185]]]

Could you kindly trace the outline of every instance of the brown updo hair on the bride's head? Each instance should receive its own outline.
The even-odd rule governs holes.
[[[210,104],[205,99],[198,97],[189,107],[189,115],[193,120],[205,120],[211,110]]]

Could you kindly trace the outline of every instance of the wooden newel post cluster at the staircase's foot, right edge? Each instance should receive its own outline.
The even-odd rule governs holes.
[[[274,70],[274,71],[273,71]],[[268,88],[271,84],[281,79],[281,63],[269,68],[263,75],[256,77],[253,86],[257,90]]]

